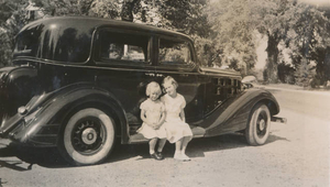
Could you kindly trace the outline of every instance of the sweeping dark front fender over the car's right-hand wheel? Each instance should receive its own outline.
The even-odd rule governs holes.
[[[272,116],[279,112],[278,102],[271,92],[261,89],[248,89],[229,98],[205,119],[201,124],[206,129],[205,136],[244,130],[252,108],[258,102],[264,102]]]

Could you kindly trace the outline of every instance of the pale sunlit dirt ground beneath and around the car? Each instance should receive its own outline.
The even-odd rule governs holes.
[[[100,165],[72,167],[52,148],[8,146],[0,140],[0,178],[8,186],[330,186],[330,95],[272,90],[287,124],[272,123],[265,145],[250,146],[242,134],[195,139],[190,162],[148,157],[147,144],[120,145]]]

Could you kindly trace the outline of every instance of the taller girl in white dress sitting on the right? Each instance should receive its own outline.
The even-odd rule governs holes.
[[[193,132],[189,124],[186,123],[184,111],[186,100],[182,95],[176,92],[178,84],[173,77],[165,77],[163,87],[166,90],[166,95],[161,98],[166,111],[164,127],[166,129],[167,140],[169,143],[175,143],[174,158],[190,161],[186,155],[186,147],[193,139]]]

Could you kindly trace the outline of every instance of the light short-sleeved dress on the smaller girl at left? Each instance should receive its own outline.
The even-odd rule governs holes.
[[[140,106],[140,109],[145,110],[145,117],[148,123],[157,123],[161,120],[162,112],[165,111],[165,107],[162,101],[152,101],[151,99],[143,101]],[[152,127],[143,122],[138,132],[141,133],[145,139],[166,139],[164,124],[161,125],[160,129],[154,130]]]

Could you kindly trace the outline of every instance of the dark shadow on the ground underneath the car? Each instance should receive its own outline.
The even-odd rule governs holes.
[[[267,144],[275,141],[288,140],[271,134]],[[206,152],[226,151],[245,146],[250,145],[248,145],[244,135],[240,133],[215,138],[194,139],[188,145],[187,155],[193,158],[205,157]],[[163,150],[165,158],[173,157],[174,150],[175,145],[167,142]],[[117,143],[111,155],[103,163],[114,163],[133,157],[139,157],[139,160],[148,160],[148,144],[120,145]],[[25,164],[23,164],[23,162]],[[24,172],[33,169],[34,164],[48,168],[72,167],[65,162],[56,148],[26,147],[14,143],[11,143],[6,147],[0,147],[0,168],[7,167]]]

